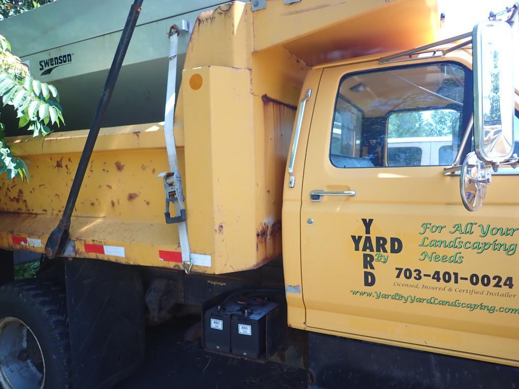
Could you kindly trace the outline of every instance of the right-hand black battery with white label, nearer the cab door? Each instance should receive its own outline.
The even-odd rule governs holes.
[[[267,344],[267,315],[275,314],[278,309],[278,303],[268,301],[231,315],[231,353],[253,359],[262,357]]]

